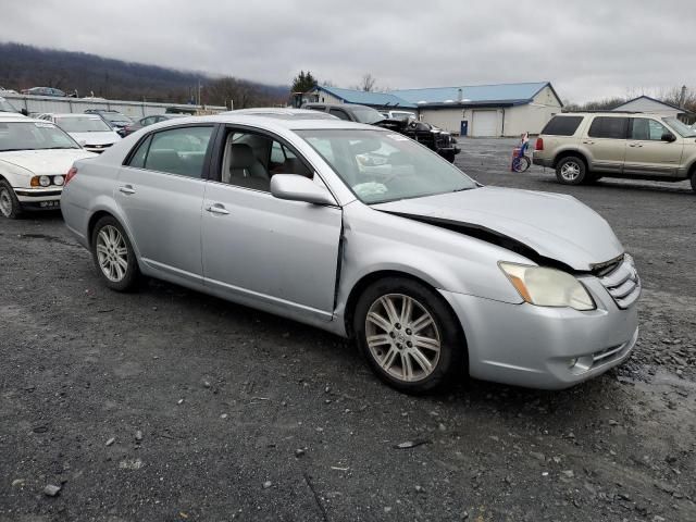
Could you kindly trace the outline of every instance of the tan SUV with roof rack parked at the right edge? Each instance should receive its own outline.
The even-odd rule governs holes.
[[[627,177],[691,179],[696,190],[696,130],[676,117],[634,112],[554,116],[536,139],[534,164],[566,185]]]

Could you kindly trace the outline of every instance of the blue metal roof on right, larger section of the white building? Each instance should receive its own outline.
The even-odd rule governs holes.
[[[462,85],[457,87],[435,87],[428,89],[400,89],[394,90],[391,94],[411,103],[415,103],[419,107],[442,103],[519,104],[526,103],[532,100],[537,92],[546,86],[550,86],[550,83],[535,82],[529,84]],[[459,89],[461,89],[461,101],[458,100]],[[554,89],[554,87],[551,87],[551,89]]]

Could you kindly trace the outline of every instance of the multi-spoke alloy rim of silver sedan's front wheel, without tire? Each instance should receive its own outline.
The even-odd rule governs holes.
[[[431,313],[415,299],[388,294],[376,299],[365,319],[371,356],[402,382],[426,378],[437,366],[440,334]]]

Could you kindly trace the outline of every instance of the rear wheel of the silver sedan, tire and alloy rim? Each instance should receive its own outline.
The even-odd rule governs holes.
[[[128,236],[113,216],[101,217],[91,233],[91,254],[105,285],[116,291],[137,286],[140,271]]]

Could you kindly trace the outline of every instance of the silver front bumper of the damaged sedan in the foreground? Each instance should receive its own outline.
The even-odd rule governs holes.
[[[599,279],[583,283],[597,310],[511,304],[440,290],[462,324],[471,376],[562,389],[627,359],[638,336],[635,304],[621,310]],[[574,359],[579,363],[571,368]]]

